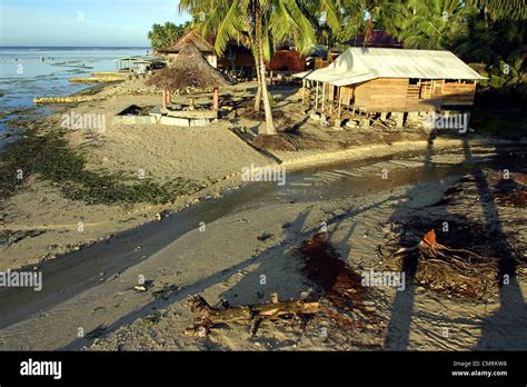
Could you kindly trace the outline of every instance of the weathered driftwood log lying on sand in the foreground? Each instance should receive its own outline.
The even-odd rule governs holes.
[[[192,297],[188,304],[190,310],[198,314],[198,317],[193,327],[188,328],[186,334],[199,336],[207,336],[213,327],[227,322],[250,324],[250,331],[255,335],[264,320],[315,315],[319,311],[318,302],[298,299],[279,301],[276,292],[271,294],[271,301],[267,304],[230,307],[223,301],[223,309],[211,307],[201,296]]]

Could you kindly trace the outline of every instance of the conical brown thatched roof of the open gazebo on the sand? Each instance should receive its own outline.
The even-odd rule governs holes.
[[[183,44],[169,67],[153,75],[146,82],[162,90],[213,89],[228,86],[223,75],[209,64],[191,43]]]

